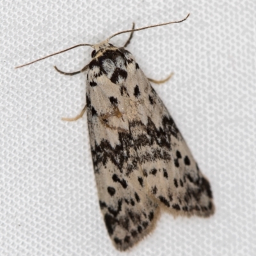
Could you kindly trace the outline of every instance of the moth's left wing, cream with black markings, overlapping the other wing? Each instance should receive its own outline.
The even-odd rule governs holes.
[[[145,189],[146,180],[134,148],[129,118],[124,113],[127,108],[127,92],[122,88],[124,77],[115,80],[109,75],[116,65],[122,64],[122,58],[116,60],[119,64],[104,59],[101,65],[98,65],[100,60],[90,65],[86,104],[100,209],[113,244],[124,251],[154,228],[159,207]],[[104,74],[100,73],[102,69]],[[124,76],[124,72],[118,74]]]

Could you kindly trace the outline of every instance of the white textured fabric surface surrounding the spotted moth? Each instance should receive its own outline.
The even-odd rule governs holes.
[[[1,3],[0,255],[256,255],[256,2],[12,1]],[[93,176],[85,75],[90,47],[15,70],[79,43],[131,28],[127,47],[154,85],[202,172],[216,213],[164,213],[131,252],[108,237]],[[129,35],[116,36],[121,46]]]

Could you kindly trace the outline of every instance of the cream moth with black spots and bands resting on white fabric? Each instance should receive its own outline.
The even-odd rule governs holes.
[[[109,44],[113,36],[90,45],[92,60],[82,70],[56,69],[67,75],[87,72],[87,108],[66,120],[77,120],[87,111],[100,209],[114,246],[124,251],[152,231],[160,209],[208,217],[214,204],[209,181],[150,85],[152,80],[129,51]]]

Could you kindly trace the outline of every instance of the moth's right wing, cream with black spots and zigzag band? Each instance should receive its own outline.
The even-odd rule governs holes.
[[[148,194],[172,214],[210,216],[211,186],[172,116],[140,68],[127,83],[140,92],[133,98],[138,112],[130,120],[130,130]]]

